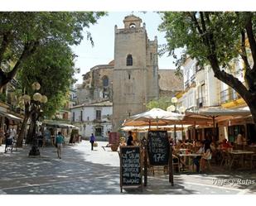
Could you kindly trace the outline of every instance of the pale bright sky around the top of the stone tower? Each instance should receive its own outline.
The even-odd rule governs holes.
[[[140,17],[142,23],[146,23],[147,37],[153,41],[157,36],[158,46],[167,43],[165,33],[157,30],[162,20],[157,12],[109,12],[108,16],[101,17],[97,24],[90,26],[88,31],[92,34],[94,46],[87,41],[86,34],[84,40],[79,46],[73,46],[72,49],[78,57],[75,60],[75,66],[80,68],[80,74],[75,74],[78,79],[76,84],[82,83],[82,74],[85,74],[95,65],[107,65],[114,60],[114,26],[123,28],[124,17],[131,15]],[[141,25],[142,26],[142,25]],[[171,57],[163,55],[158,57],[159,69],[175,69]]]

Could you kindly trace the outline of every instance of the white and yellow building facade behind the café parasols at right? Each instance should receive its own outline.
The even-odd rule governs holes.
[[[215,78],[213,69],[210,66],[200,67],[196,60],[187,58],[183,65],[184,72],[184,92],[179,94],[178,108],[183,106],[186,109],[197,110],[199,108],[221,107],[221,108],[244,108],[247,107],[244,99],[239,93],[230,88],[227,84]],[[244,83],[244,65],[243,61],[234,59],[229,62],[229,68],[225,71],[234,75]],[[244,83],[245,84],[245,83]],[[236,122],[222,122],[217,124],[217,137],[219,141],[227,139],[234,142],[238,133],[244,133],[250,141],[255,141],[250,137],[253,124],[250,120]],[[188,135],[188,133],[190,133]],[[205,138],[205,133],[213,135],[212,128],[196,127],[196,131],[188,132],[186,138],[196,138],[200,140]]]

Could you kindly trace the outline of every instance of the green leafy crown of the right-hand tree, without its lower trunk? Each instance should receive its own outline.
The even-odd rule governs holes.
[[[162,52],[168,51],[176,59],[178,69],[187,55],[196,58],[200,66],[210,65],[210,55],[216,55],[218,64],[226,68],[241,52],[241,31],[249,12],[162,12],[161,15],[159,30],[165,31],[167,38]],[[198,28],[203,26],[206,32],[200,33]],[[176,54],[177,48],[182,48],[181,55]]]

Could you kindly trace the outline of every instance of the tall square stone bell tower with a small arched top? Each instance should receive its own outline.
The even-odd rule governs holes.
[[[139,17],[125,17],[123,23],[124,28],[114,28],[114,131],[124,119],[146,111],[146,104],[159,95],[157,37],[147,38]]]

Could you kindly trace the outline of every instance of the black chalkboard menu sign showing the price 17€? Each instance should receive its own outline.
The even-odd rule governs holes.
[[[167,131],[149,131],[147,148],[150,165],[168,165],[170,144]]]

